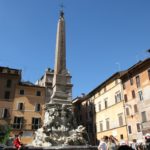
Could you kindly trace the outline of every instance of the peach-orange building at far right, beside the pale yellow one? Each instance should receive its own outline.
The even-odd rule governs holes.
[[[140,61],[122,76],[129,141],[150,133],[150,59]]]

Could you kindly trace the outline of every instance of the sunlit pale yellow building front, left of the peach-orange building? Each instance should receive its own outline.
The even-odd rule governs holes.
[[[124,98],[120,80],[124,72],[115,73],[97,89],[94,96],[96,111],[97,139],[113,135],[120,140],[128,140],[124,113]]]

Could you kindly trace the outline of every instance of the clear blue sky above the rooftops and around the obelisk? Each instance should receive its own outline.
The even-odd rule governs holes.
[[[35,82],[53,68],[62,0],[0,0],[0,66]],[[148,57],[150,0],[63,0],[73,97]]]

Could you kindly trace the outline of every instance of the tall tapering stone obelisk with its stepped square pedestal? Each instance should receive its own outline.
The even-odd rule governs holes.
[[[53,93],[50,103],[71,104],[71,100],[71,76],[66,68],[65,18],[61,10],[57,25]]]

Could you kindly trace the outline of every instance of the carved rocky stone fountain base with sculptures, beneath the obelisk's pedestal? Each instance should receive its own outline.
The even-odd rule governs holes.
[[[49,104],[49,106],[51,106]],[[76,126],[71,107],[52,104],[46,110],[47,121],[35,132],[34,146],[86,145],[83,138],[85,128]]]

